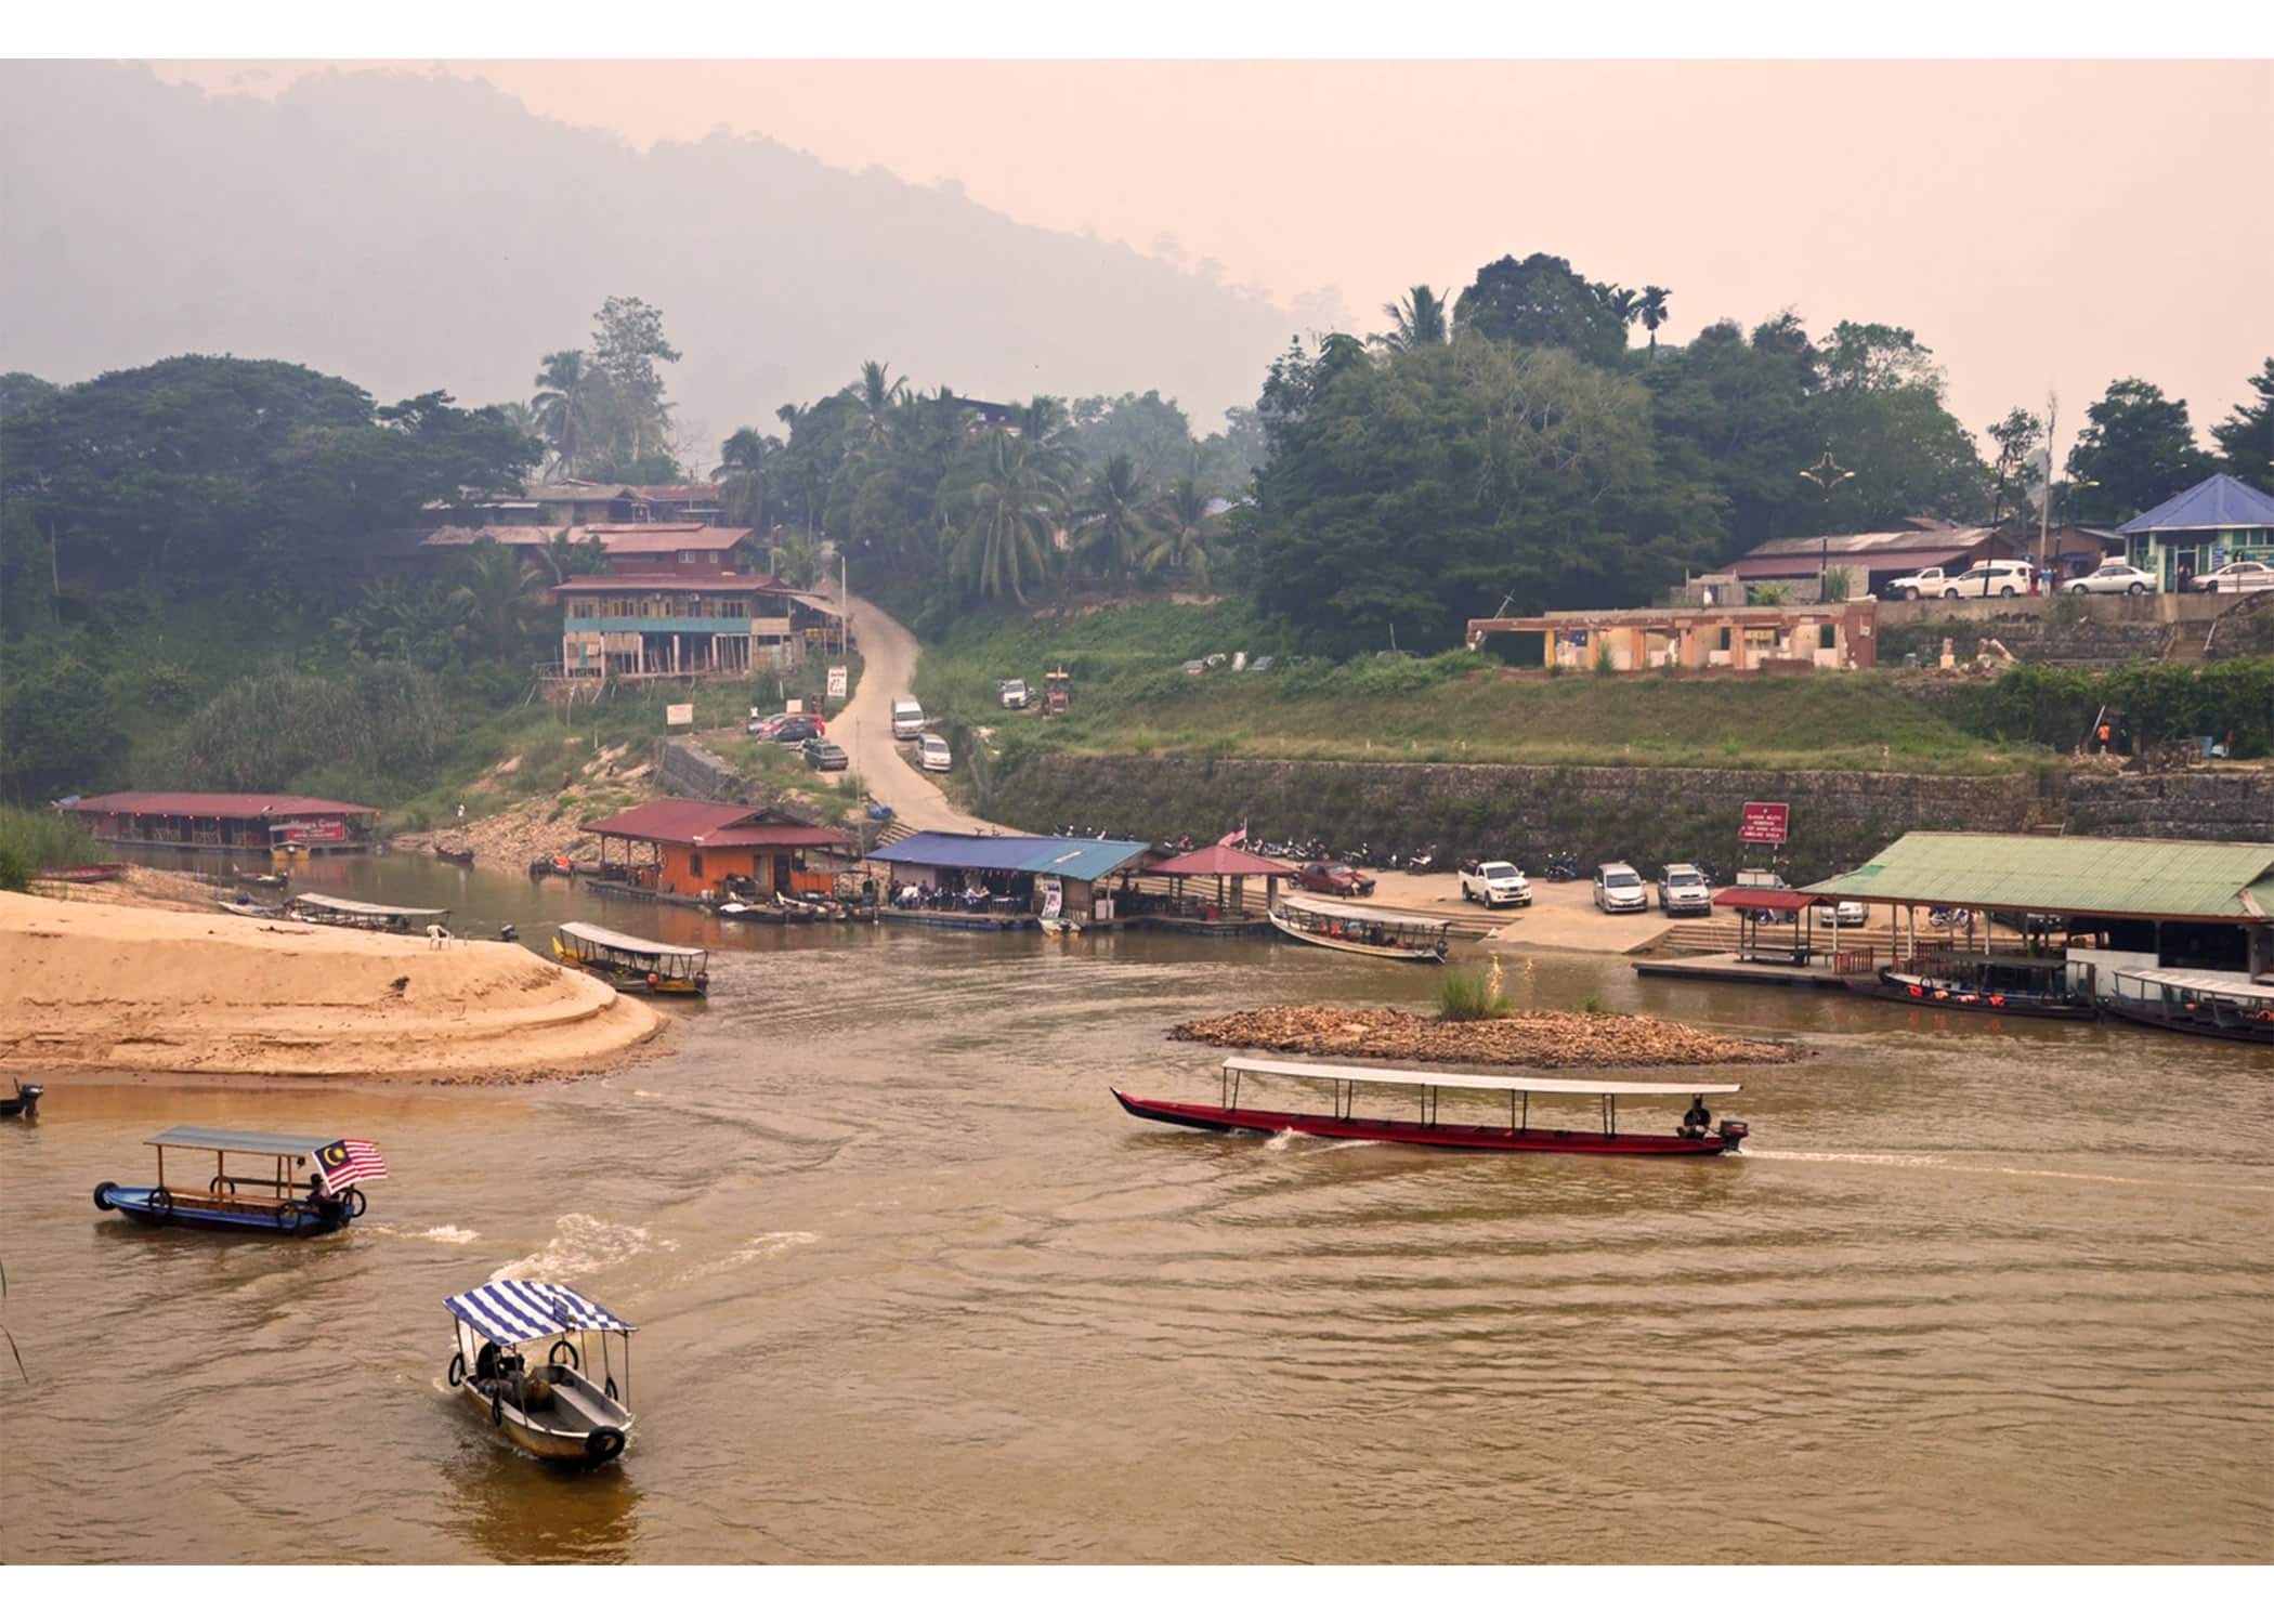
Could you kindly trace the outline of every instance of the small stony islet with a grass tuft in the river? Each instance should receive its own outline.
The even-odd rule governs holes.
[[[1517,1010],[1492,1021],[1439,1021],[1412,1010],[1342,1010],[1330,1003],[1276,1003],[1207,1021],[1185,1021],[1169,1037],[1219,1049],[1269,1049],[1339,1060],[1435,1060],[1494,1067],[1719,1067],[1799,1060],[1792,1044],[1728,1037],[1655,1014]]]

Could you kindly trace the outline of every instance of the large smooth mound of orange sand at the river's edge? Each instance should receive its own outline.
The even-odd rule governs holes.
[[[0,1067],[509,1080],[582,1071],[662,1017],[505,942],[0,894]]]

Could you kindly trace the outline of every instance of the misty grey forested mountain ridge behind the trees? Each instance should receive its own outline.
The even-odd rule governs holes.
[[[0,86],[0,371],[55,382],[232,353],[525,400],[632,293],[684,355],[700,459],[862,359],[998,400],[1160,389],[1207,432],[1301,323],[955,182],[725,132],[639,152],[484,80],[327,71],[271,102],[16,61]]]

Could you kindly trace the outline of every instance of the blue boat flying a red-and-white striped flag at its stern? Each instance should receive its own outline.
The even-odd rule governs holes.
[[[98,1212],[125,1212],[136,1224],[216,1228],[250,1235],[330,1235],[364,1215],[362,1185],[387,1178],[368,1140],[234,1128],[166,1128],[157,1146],[155,1185],[96,1185]],[[166,1151],[211,1151],[214,1176],[171,1183]],[[230,1158],[236,1158],[232,1165]],[[182,1162],[175,1160],[175,1169]]]

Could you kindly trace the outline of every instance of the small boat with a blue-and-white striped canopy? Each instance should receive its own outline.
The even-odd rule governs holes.
[[[541,1460],[591,1467],[623,1453],[637,1419],[639,1326],[550,1281],[491,1281],[443,1299],[443,1308],[455,1321],[446,1378],[500,1437]],[[621,1387],[609,1337],[623,1347]],[[521,1349],[537,1347],[541,1360],[530,1365]]]

